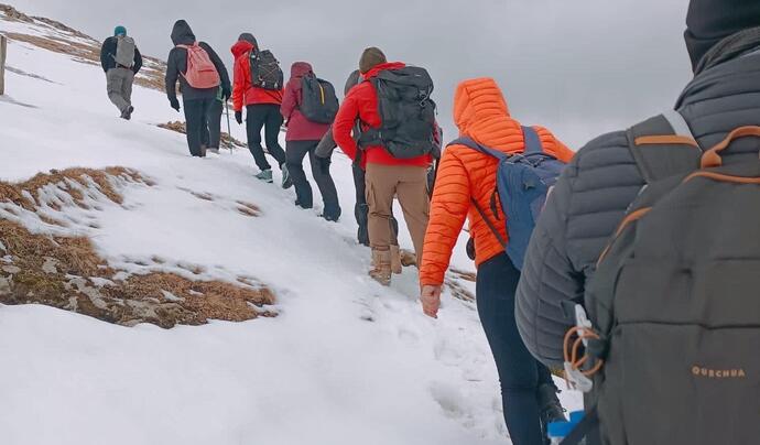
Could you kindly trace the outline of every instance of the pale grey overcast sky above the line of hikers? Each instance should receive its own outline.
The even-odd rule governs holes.
[[[243,31],[285,75],[295,61],[343,89],[366,46],[426,67],[438,119],[453,139],[456,85],[495,77],[512,116],[549,127],[574,148],[672,107],[691,78],[683,43],[687,0],[6,0],[96,39],[123,24],[165,58],[177,19],[228,62]]]

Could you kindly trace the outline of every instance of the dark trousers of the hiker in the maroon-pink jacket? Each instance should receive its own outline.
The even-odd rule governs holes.
[[[295,186],[295,204],[303,208],[312,208],[314,205],[312,186],[304,172],[304,158],[308,154],[308,162],[312,164],[312,175],[317,183],[317,187],[319,187],[322,199],[325,202],[324,216],[329,219],[338,219],[340,217],[338,191],[335,188],[335,182],[333,182],[333,176],[329,174],[329,160],[325,159],[322,161],[326,165],[326,169],[323,169],[323,164],[315,155],[318,143],[319,141],[289,141],[285,146],[287,172],[290,172]]]

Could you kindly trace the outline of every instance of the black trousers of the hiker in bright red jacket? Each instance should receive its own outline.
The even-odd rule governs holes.
[[[264,140],[267,151],[278,161],[278,165],[285,163],[285,151],[280,146],[280,127],[283,118],[280,113],[280,106],[274,104],[257,104],[246,107],[246,129],[248,130],[248,150],[251,151],[256,165],[259,170],[272,170],[267,162],[264,149],[261,146],[261,129],[264,129]]]

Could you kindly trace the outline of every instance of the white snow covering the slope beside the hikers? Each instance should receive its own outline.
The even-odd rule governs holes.
[[[1,14],[0,31],[51,32]],[[276,293],[280,315],[165,330],[2,306],[1,444],[508,443],[474,306],[447,293],[433,321],[419,307],[413,270],[390,290],[366,275],[369,251],[355,241],[348,159],[334,156],[344,218],[329,224],[318,209],[296,209],[293,191],[257,182],[245,150],[189,158],[183,135],[155,127],[181,119],[159,91],[137,87],[127,122],[97,66],[18,42],[9,44],[8,64],[14,70],[0,97],[0,180],[72,166],[134,169],[155,186],[128,186],[123,205],[91,210],[87,220],[97,224],[66,230],[90,237],[124,270],[173,271],[165,264],[184,262],[203,267],[208,279],[254,276]],[[242,216],[236,202],[263,215]],[[76,223],[83,210],[70,211]],[[474,269],[464,247],[454,263]],[[563,399],[571,409],[579,404],[577,394]]]

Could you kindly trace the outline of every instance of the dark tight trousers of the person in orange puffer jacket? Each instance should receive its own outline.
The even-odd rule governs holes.
[[[543,445],[538,390],[554,386],[550,370],[531,356],[518,333],[514,294],[520,271],[507,253],[478,268],[478,314],[501,381],[504,421],[514,445]]]

